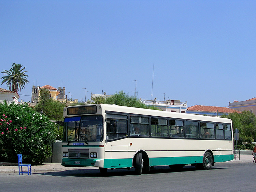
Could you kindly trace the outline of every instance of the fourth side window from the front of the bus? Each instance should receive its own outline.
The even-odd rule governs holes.
[[[184,122],[182,120],[169,120],[170,137],[184,137]]]

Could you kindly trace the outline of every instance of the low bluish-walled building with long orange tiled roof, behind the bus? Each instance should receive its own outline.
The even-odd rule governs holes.
[[[238,110],[230,109],[228,107],[215,107],[215,106],[204,106],[204,105],[194,105],[194,106],[188,107],[186,111],[186,113],[190,113],[190,114],[208,115],[208,116],[221,116],[223,114],[227,115],[229,113],[236,113],[236,112],[241,113]]]

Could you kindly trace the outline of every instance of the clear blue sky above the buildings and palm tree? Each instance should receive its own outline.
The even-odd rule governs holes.
[[[227,107],[256,97],[256,1],[0,2],[0,71],[71,98],[123,90],[138,98]],[[0,74],[2,77],[3,74]],[[2,79],[1,79],[2,81]],[[8,89],[3,84],[1,88]],[[69,98],[69,96],[68,96]]]

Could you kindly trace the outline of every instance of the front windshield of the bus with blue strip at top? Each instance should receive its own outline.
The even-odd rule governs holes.
[[[64,119],[64,142],[100,142],[103,140],[103,119],[100,115]]]

